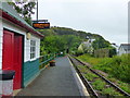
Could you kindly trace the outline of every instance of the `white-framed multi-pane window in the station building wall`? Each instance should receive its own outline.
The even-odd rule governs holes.
[[[36,40],[30,39],[30,60],[36,59]]]

